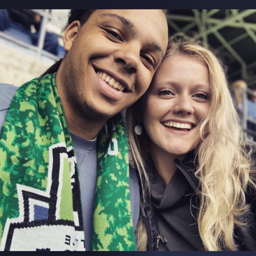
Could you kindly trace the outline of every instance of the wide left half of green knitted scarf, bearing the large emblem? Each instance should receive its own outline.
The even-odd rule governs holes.
[[[54,173],[54,175],[49,173],[49,161],[51,160],[52,162],[54,158],[56,159],[55,156],[52,156],[52,152],[57,147],[62,151],[64,150],[63,152],[66,154],[66,157],[63,158],[64,167],[62,168],[60,180],[58,180],[59,173]],[[71,157],[68,157],[68,154]],[[74,219],[81,215],[77,214],[77,211],[75,217],[73,215],[74,196],[78,199],[78,205],[81,205],[79,193],[78,197],[77,194],[74,195],[71,186],[71,176],[74,177],[75,164],[74,149],[61,99],[57,92],[55,74],[46,75],[42,79],[35,78],[23,84],[12,99],[0,133],[0,242],[6,240],[5,244],[1,243],[1,249],[18,248],[11,247],[12,241],[8,241],[9,236],[7,235],[10,232],[7,230],[9,228],[9,226],[6,226],[7,221],[9,221],[8,223],[21,224],[24,235],[26,234],[25,228],[29,230],[29,227],[34,225],[26,220],[26,216],[23,213],[25,212],[24,209],[29,207],[26,205],[28,202],[23,202],[22,193],[28,191],[35,196],[42,195],[43,192],[40,191],[44,191],[44,198],[46,200],[49,199],[47,204],[56,205],[56,213],[53,212],[52,214],[53,218],[46,219],[49,223],[42,221],[44,227],[50,224],[56,227],[55,237],[57,237],[58,232],[60,233],[58,227],[64,225],[65,227],[68,226],[68,228],[71,227],[71,229],[66,229],[68,234],[73,232],[74,237],[79,236],[84,239],[84,232],[77,231],[74,224]],[[55,162],[53,165],[51,167],[52,170],[57,170],[58,172],[60,163],[58,164],[59,169],[56,169]],[[49,178],[52,179],[53,176],[57,177],[55,183],[53,180],[49,181]],[[59,183],[62,184],[61,190],[58,190]],[[23,188],[20,194],[18,186]],[[50,191],[51,196],[49,195]],[[46,192],[49,198],[47,198]],[[57,195],[57,193],[59,194]],[[56,204],[57,198],[59,205]],[[51,200],[55,201],[51,202]],[[67,202],[71,207],[65,205]],[[79,207],[76,208],[79,209]],[[20,212],[21,209],[23,209],[22,213]],[[50,216],[51,213],[49,212],[50,210],[48,211]],[[60,220],[67,222],[61,223]],[[38,224],[36,225],[38,226]],[[6,230],[4,230],[5,227]],[[4,239],[3,235],[5,236]],[[61,239],[60,244],[65,244],[65,237]],[[31,250],[32,247],[29,244],[32,241],[26,242],[23,245],[24,250]],[[9,244],[9,247],[7,244]],[[54,249],[54,245],[50,249]],[[77,248],[74,247],[72,249]],[[82,249],[84,250],[84,246]]]

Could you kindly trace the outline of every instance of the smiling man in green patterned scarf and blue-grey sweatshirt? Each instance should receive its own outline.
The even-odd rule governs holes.
[[[162,10],[72,10],[63,60],[0,85],[1,250],[135,250],[120,111],[146,92],[167,30]]]

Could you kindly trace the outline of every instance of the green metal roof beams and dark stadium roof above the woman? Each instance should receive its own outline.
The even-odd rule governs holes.
[[[221,58],[231,83],[256,88],[255,10],[168,10],[169,34],[202,41]]]

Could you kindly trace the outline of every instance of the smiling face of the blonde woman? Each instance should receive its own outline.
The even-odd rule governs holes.
[[[183,155],[201,141],[199,122],[210,108],[207,66],[187,55],[163,60],[142,98],[142,119],[154,152]]]

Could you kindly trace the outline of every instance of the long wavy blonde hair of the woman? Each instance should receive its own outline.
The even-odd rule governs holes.
[[[238,116],[220,62],[210,50],[197,43],[171,39],[165,58],[179,54],[205,63],[210,78],[210,110],[199,124],[202,141],[195,150],[199,161],[195,176],[201,185],[197,216],[199,234],[205,250],[237,250],[234,229],[246,229],[246,216],[250,213],[246,190],[251,185],[256,188],[252,178],[255,177],[255,170],[252,169],[249,153],[244,150]],[[150,157],[150,139],[145,131],[141,136],[135,134],[139,106],[140,100],[127,109],[126,125],[132,160],[138,169],[145,200],[150,195],[145,164]],[[141,218],[137,231],[137,247],[146,250],[147,234]]]

